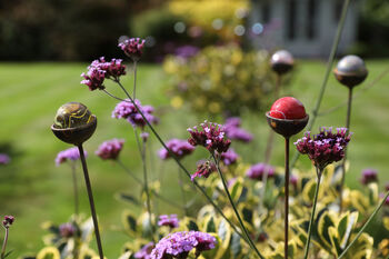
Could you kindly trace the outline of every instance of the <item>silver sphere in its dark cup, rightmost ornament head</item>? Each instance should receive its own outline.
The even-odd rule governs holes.
[[[361,58],[350,54],[339,60],[333,73],[341,84],[353,88],[365,81],[368,70]]]

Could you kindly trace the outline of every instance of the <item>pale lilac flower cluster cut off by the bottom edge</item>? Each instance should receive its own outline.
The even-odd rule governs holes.
[[[152,259],[186,259],[192,249],[196,255],[213,249],[217,240],[209,233],[200,231],[182,231],[162,238],[151,251]]]

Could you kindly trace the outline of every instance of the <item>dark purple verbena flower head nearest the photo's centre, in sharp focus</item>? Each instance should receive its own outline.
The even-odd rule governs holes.
[[[200,124],[201,129],[198,130],[197,127],[188,129],[191,138],[188,142],[192,146],[203,146],[212,155],[215,151],[218,153],[226,152],[231,145],[231,140],[226,139],[226,132],[222,126],[205,121]]]

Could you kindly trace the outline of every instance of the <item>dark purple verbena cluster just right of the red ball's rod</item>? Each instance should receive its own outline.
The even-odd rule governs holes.
[[[320,128],[320,132],[311,137],[310,132],[297,142],[297,150],[302,155],[308,155],[313,165],[322,170],[332,162],[340,161],[345,157],[345,150],[349,143],[351,135],[347,135],[346,128],[338,128],[332,133],[332,128]]]

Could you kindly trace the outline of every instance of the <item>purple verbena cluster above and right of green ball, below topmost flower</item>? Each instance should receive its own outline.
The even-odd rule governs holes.
[[[110,62],[107,62],[104,57],[94,60],[88,67],[88,72],[81,73],[81,77],[84,78],[81,83],[88,86],[91,91],[104,89],[103,82],[106,78],[118,80],[120,76],[126,74],[126,66],[121,62],[121,59],[112,59]]]

